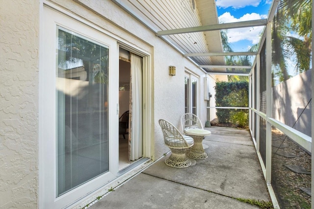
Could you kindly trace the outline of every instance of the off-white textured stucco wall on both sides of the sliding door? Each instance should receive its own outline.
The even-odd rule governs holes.
[[[151,54],[155,159],[169,151],[158,119],[180,126],[185,69],[200,77],[200,116],[206,118],[204,72],[155,33],[111,0],[50,1]],[[38,208],[39,10],[39,0],[0,0],[0,208]],[[176,76],[168,75],[169,66],[176,66]]]

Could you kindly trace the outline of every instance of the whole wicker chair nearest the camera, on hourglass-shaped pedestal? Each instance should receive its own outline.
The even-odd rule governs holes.
[[[186,157],[186,150],[193,146],[193,138],[182,135],[180,131],[169,121],[159,119],[165,144],[170,148],[171,155],[165,160],[166,165],[176,168],[184,168],[191,165]]]

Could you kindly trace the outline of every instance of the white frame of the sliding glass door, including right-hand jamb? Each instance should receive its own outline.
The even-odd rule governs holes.
[[[143,157],[153,158],[153,72],[151,56],[143,49],[81,19],[51,2],[41,2],[40,60],[39,60],[39,208],[64,208],[87,199],[91,193],[101,190],[118,177],[118,123],[119,45],[143,57]],[[109,124],[109,172],[56,197],[56,115],[55,115],[55,67],[56,25],[109,47],[108,117]],[[50,28],[47,31],[47,27]],[[96,35],[97,34],[97,35]],[[118,44],[118,42],[120,43]],[[111,69],[111,70],[110,70]],[[113,70],[115,69],[115,70]],[[116,93],[113,93],[113,91]],[[49,95],[49,96],[48,96]],[[150,125],[148,125],[150,124]],[[152,131],[153,130],[153,131]],[[116,141],[116,142],[114,142]],[[135,169],[135,168],[134,168]]]

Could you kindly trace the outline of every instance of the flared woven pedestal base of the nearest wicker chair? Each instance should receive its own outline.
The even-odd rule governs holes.
[[[192,162],[186,157],[184,149],[171,149],[171,155],[168,159],[165,160],[166,165],[176,168],[184,168],[188,167],[192,164]]]

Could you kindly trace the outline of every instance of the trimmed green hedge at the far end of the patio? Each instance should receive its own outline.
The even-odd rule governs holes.
[[[249,83],[217,82],[215,86],[216,107],[248,107]],[[248,126],[248,110],[241,109],[217,109],[217,117],[220,123],[233,123],[241,128]]]

